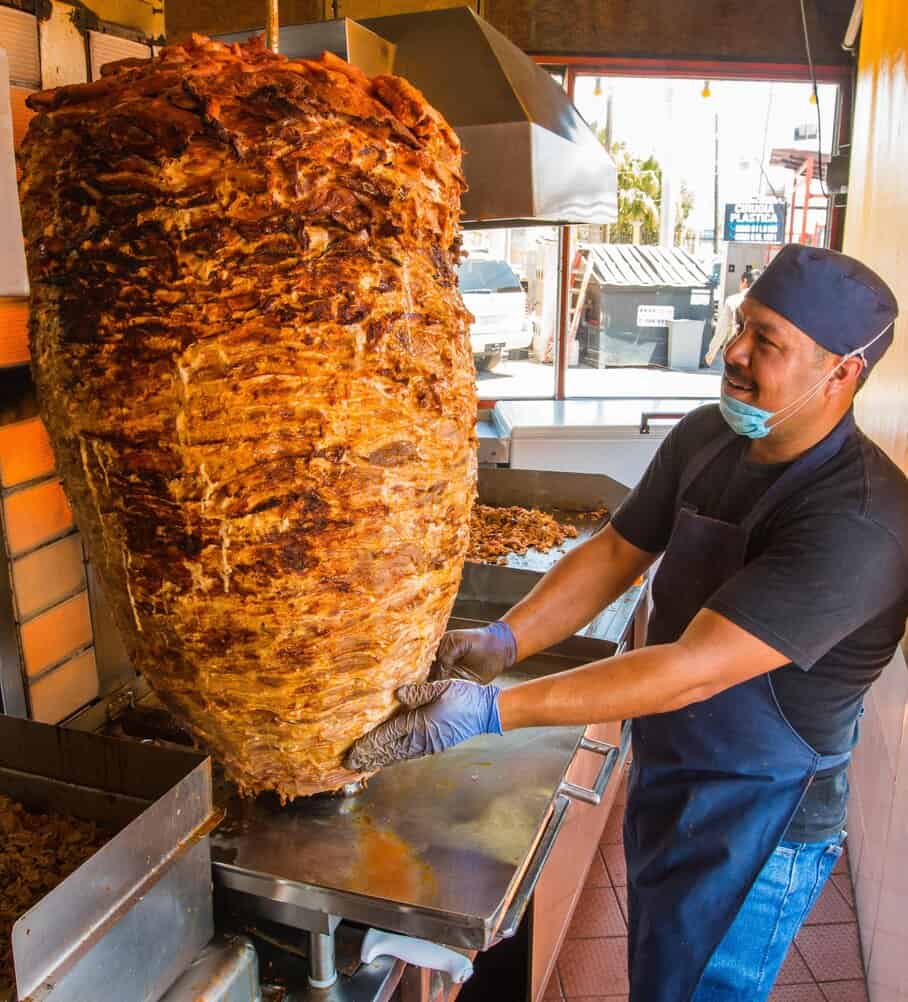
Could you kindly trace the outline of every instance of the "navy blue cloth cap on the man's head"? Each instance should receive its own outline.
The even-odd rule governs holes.
[[[892,344],[899,305],[892,290],[866,265],[822,247],[788,243],[773,259],[748,296],[775,310],[834,355],[868,347],[871,369]]]

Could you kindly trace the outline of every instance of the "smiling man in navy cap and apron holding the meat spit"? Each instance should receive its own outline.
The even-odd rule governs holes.
[[[666,438],[611,523],[504,617],[448,634],[447,678],[353,768],[480,732],[632,718],[632,1002],[766,999],[841,854],[861,702],[908,614],[908,481],[855,426],[897,305],[859,262],[783,248],[738,311],[718,407]],[[500,690],[663,553],[647,645]],[[487,684],[479,684],[479,683]]]

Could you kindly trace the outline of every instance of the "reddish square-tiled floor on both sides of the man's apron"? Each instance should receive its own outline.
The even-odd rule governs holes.
[[[627,904],[619,792],[546,1002],[627,1000]],[[867,1002],[847,853],[801,930],[771,1002]]]

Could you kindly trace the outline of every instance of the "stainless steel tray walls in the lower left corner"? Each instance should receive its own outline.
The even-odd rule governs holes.
[[[18,997],[158,999],[213,932],[210,760],[0,716],[0,791],[116,831],[13,926]]]

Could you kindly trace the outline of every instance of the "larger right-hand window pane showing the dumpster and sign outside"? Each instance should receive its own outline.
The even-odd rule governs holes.
[[[568,396],[718,395],[721,354],[712,371],[705,356],[741,276],[783,242],[827,242],[837,87],[819,87],[819,123],[811,97],[807,83],[576,78],[617,164],[618,218],[573,227]]]

